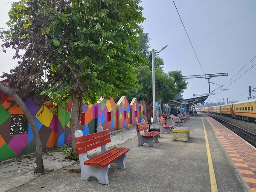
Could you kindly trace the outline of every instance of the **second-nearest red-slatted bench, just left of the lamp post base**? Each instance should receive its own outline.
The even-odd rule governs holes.
[[[138,136],[138,141],[139,145],[143,145],[144,143],[148,143],[150,147],[154,147],[153,145],[153,140],[156,143],[159,143],[158,138],[160,136],[160,131],[150,131],[148,132],[148,122],[145,122],[143,119],[143,122],[138,122],[135,120],[135,125],[136,125],[136,131],[137,131],[137,136]],[[141,134],[140,131],[144,131],[144,134]]]

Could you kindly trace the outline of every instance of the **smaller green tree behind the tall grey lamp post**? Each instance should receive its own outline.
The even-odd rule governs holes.
[[[141,27],[143,30],[143,27]],[[148,103],[148,121],[152,116],[152,52],[149,51],[149,36],[148,33],[142,33],[139,36],[140,48],[137,51],[145,62],[141,63],[139,67],[135,69],[137,75],[137,82],[128,91],[124,91],[122,95],[126,95],[127,99],[131,101],[134,97],[137,100],[145,100]],[[186,89],[187,82],[182,78],[181,71],[171,71],[165,73],[163,71],[163,59],[159,55],[155,55],[155,97],[156,101],[161,103],[161,108],[164,109],[164,104],[175,98],[177,93],[182,93]]]

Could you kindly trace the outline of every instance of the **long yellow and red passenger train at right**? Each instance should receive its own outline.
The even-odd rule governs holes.
[[[256,122],[256,99],[217,105],[214,107],[199,108],[198,111]]]

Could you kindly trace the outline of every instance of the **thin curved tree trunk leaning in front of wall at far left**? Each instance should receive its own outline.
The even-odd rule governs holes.
[[[26,108],[25,103],[20,99],[20,97],[16,94],[14,90],[12,90],[9,87],[4,86],[2,83],[0,83],[0,90],[5,93],[6,95],[11,96],[17,105],[19,105],[20,109],[23,111],[24,115],[29,121],[29,124],[31,126],[32,134],[34,136],[35,140],[35,161],[36,161],[36,173],[44,173],[44,162],[42,157],[42,143],[38,134],[38,129],[35,124],[35,120],[31,113],[29,112],[28,108]]]

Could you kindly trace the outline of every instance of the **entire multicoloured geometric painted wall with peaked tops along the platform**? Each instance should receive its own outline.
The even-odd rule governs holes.
[[[0,92],[1,96],[2,93]],[[11,97],[4,95],[0,101],[0,161],[35,152],[34,137],[27,120],[26,131],[22,134],[10,133],[11,125],[15,123],[14,116],[23,115],[17,105],[6,111],[11,100]],[[25,105],[32,116],[35,117],[43,149],[70,143],[69,123],[72,102],[68,103],[65,109],[53,105],[44,105],[40,108],[36,105],[36,102],[37,100],[28,99]],[[53,107],[57,108],[58,116],[49,111]],[[132,126],[135,119],[138,119],[139,122],[141,122],[141,119],[146,120],[146,112],[145,102],[138,104],[136,98],[133,99],[131,105],[126,96],[122,96],[117,104],[112,98],[109,100],[101,99],[95,105],[84,104],[79,128],[84,135],[95,133],[97,126],[102,126],[104,130],[116,131]]]

